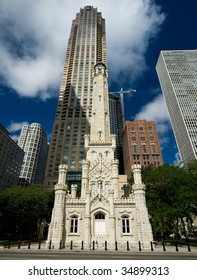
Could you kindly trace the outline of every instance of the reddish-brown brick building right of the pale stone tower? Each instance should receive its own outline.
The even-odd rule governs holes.
[[[131,166],[163,164],[155,121],[126,121],[123,129],[123,158],[125,173],[131,176]]]

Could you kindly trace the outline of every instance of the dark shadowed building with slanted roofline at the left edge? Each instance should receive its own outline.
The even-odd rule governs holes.
[[[0,188],[18,184],[23,157],[24,151],[0,124]]]

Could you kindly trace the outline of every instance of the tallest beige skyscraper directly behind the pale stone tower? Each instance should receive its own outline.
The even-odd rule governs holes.
[[[98,61],[107,64],[105,20],[97,8],[85,6],[72,22],[45,185],[57,183],[59,164],[68,166],[68,175],[81,173],[81,162],[85,158],[84,135],[89,133],[92,109],[92,71]]]

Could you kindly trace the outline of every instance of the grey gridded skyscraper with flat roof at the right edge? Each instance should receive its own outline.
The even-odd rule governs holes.
[[[181,160],[197,159],[197,50],[161,51],[156,70]]]

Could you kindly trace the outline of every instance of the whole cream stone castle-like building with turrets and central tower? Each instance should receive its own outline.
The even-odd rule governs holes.
[[[128,191],[127,180],[124,182],[118,174],[118,160],[114,158],[116,137],[110,134],[108,75],[103,63],[94,67],[92,78],[91,130],[85,136],[81,196],[76,197],[76,185],[68,193],[67,166],[60,165],[47,246],[59,248],[60,242],[65,246],[71,241],[83,241],[87,248],[93,241],[97,244],[140,241],[142,246],[150,245],[153,237],[141,166],[132,166],[132,191]]]

